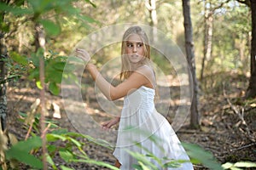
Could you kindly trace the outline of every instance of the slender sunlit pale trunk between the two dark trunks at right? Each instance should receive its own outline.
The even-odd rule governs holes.
[[[204,31],[204,56],[201,61],[201,77],[200,80],[203,80],[203,74],[205,69],[206,61],[212,57],[212,11],[210,8],[207,8],[207,1],[205,2],[205,31]],[[210,5],[211,6],[211,5]]]

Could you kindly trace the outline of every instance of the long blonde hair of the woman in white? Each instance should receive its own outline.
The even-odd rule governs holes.
[[[145,31],[140,26],[131,26],[125,31],[125,34],[122,39],[122,46],[121,46],[121,60],[122,60],[122,67],[120,73],[120,79],[126,79],[131,76],[131,65],[129,64],[129,60],[125,57],[125,48],[126,48],[126,41],[128,37],[131,35],[138,35],[143,40],[143,48],[144,48],[144,57],[142,64],[148,65],[150,61],[150,45],[148,41],[148,36]]]

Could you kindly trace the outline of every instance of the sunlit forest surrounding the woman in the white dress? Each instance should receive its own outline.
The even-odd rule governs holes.
[[[119,169],[123,100],[96,88],[76,48],[113,85],[121,37],[148,33],[166,116],[195,170],[256,169],[255,0],[1,0],[0,170]],[[157,139],[152,139],[157,140]],[[179,167],[132,153],[134,169]]]

